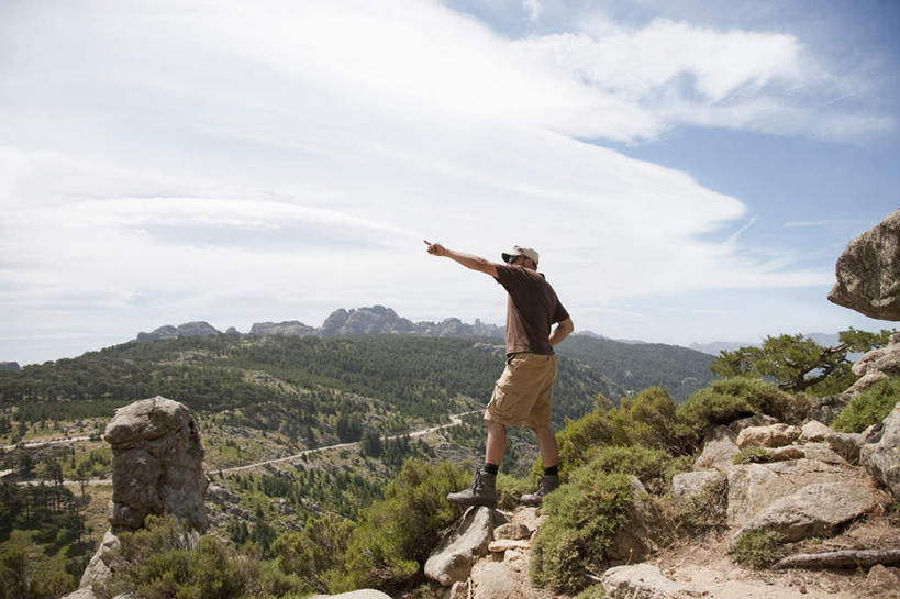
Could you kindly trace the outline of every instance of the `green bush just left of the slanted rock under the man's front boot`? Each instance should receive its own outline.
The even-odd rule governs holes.
[[[437,545],[441,531],[459,515],[446,500],[469,482],[447,462],[410,459],[385,489],[385,499],[360,513],[347,547],[347,576],[331,592],[408,585]]]

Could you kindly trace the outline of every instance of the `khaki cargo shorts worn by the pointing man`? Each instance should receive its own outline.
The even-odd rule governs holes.
[[[493,386],[485,420],[508,426],[549,426],[555,378],[555,355],[512,354]]]

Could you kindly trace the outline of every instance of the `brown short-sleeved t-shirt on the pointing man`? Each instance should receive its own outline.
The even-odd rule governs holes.
[[[497,265],[507,300],[507,354],[553,354],[551,326],[569,318],[544,275],[524,266]]]

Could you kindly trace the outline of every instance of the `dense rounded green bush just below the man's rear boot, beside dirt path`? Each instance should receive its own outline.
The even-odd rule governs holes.
[[[604,569],[604,552],[625,524],[632,501],[629,475],[590,467],[571,473],[568,485],[544,499],[547,520],[532,547],[532,581],[567,594],[581,590],[588,570]]]

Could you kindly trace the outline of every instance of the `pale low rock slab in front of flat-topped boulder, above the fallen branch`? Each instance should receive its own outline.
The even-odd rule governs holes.
[[[786,542],[831,536],[837,526],[868,511],[876,497],[855,481],[819,482],[773,501],[741,526],[732,541],[748,531],[776,531]]]

